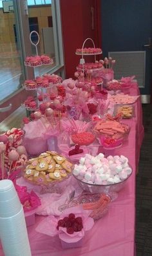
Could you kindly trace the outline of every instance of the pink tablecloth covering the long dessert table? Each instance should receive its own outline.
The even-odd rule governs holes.
[[[139,95],[137,84],[133,84],[130,95]],[[28,227],[32,255],[52,256],[133,256],[135,255],[135,176],[140,156],[140,146],[144,137],[142,126],[142,106],[140,98],[135,105],[135,117],[125,120],[131,130],[128,140],[121,148],[115,149],[115,155],[128,157],[133,174],[126,186],[119,192],[117,200],[111,203],[108,213],[95,222],[86,233],[82,248],[63,250],[58,237],[48,237],[35,231],[35,227],[44,218],[36,216],[35,225]],[[100,148],[102,152],[102,148]],[[3,255],[0,248],[0,255]]]

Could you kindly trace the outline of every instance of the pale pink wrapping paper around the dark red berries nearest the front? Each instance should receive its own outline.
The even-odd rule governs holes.
[[[74,232],[73,234],[68,234],[66,232],[66,227],[59,227],[59,230],[57,230],[58,220],[68,216],[70,213],[74,213],[75,217],[82,217],[82,230],[79,232]],[[91,211],[84,211],[81,205],[73,207],[72,209],[66,209],[59,218],[55,218],[55,216],[48,216],[47,218],[44,218],[44,220],[36,227],[35,230],[51,237],[59,235],[59,238],[67,243],[78,242],[82,239],[82,237],[84,237],[85,231],[88,231],[93,227],[94,221],[93,218],[89,217],[90,213]]]

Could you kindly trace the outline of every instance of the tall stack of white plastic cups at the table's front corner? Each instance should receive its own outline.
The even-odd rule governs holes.
[[[0,239],[5,256],[31,256],[23,205],[10,180],[0,181]]]

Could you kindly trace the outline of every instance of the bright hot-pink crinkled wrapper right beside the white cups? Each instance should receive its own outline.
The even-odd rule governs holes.
[[[31,191],[30,193],[27,192],[27,188],[20,187],[19,185],[15,185],[15,189],[17,191],[17,194],[19,196],[20,202],[23,205],[24,213],[33,211],[39,205],[41,205],[41,200],[35,194],[35,192]]]

